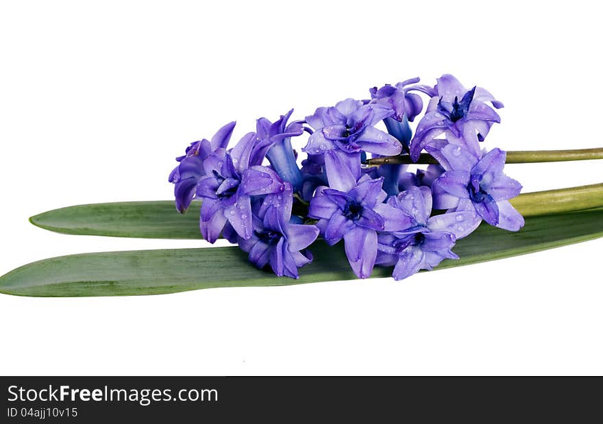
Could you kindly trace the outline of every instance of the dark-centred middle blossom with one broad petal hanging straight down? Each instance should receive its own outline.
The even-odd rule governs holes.
[[[329,245],[342,238],[345,254],[359,278],[371,275],[377,256],[377,232],[398,231],[410,225],[401,210],[382,203],[383,178],[362,175],[358,181],[334,151],[325,153],[330,187],[317,188],[308,216],[319,219],[317,227]]]

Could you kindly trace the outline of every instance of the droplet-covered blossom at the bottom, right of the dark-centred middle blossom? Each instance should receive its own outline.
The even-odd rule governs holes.
[[[428,187],[412,187],[387,201],[412,217],[403,231],[379,234],[376,264],[392,266],[393,277],[404,279],[421,269],[433,269],[445,259],[458,259],[450,249],[456,242],[455,231],[474,212],[461,211],[430,217],[432,195]],[[461,230],[464,232],[464,230]]]

